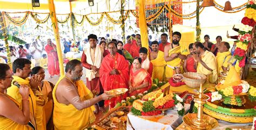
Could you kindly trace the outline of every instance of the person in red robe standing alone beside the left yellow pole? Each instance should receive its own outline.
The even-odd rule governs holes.
[[[59,75],[59,59],[57,49],[56,45],[51,42],[51,39],[47,39],[45,51],[48,56],[48,72],[50,74],[50,78],[54,75]]]

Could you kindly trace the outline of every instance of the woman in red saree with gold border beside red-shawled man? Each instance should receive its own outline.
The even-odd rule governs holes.
[[[132,62],[133,69],[130,70],[129,93],[130,96],[137,96],[150,89],[152,81],[150,74],[142,68],[142,59],[135,57]]]

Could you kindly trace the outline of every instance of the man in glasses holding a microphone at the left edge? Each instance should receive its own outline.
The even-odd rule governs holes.
[[[31,129],[26,126],[30,120],[29,86],[21,84],[19,94],[22,105],[14,98],[6,95],[6,89],[11,86],[12,72],[8,64],[0,63],[0,129]]]

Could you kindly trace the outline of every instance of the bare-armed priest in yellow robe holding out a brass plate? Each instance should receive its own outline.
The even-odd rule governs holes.
[[[84,129],[95,121],[93,105],[100,100],[110,99],[111,96],[103,93],[93,98],[92,92],[80,80],[83,76],[80,61],[69,61],[65,72],[52,91],[53,124],[55,129]]]

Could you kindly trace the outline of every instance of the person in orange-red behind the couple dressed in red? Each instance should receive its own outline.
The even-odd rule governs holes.
[[[136,40],[133,39],[131,35],[128,35],[126,40],[127,44],[124,45],[124,49],[127,50],[133,58],[139,56],[139,47]]]

